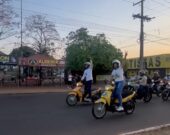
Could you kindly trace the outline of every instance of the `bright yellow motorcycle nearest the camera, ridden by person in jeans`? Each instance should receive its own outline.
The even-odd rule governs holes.
[[[113,103],[111,103],[111,95],[115,90],[115,83],[112,82],[112,85],[106,85],[105,91],[102,93],[101,98],[95,101],[92,107],[92,114],[96,119],[102,119],[107,111],[110,112],[118,112],[116,107],[118,105],[118,100],[115,99]],[[136,92],[126,92],[122,94],[122,103],[124,107],[124,111],[126,114],[132,114],[135,110],[135,102],[133,98],[135,97]]]

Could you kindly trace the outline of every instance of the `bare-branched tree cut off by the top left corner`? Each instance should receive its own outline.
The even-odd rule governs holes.
[[[14,27],[17,25],[14,22],[16,14],[11,5],[11,0],[0,0],[0,40],[11,37],[15,34]]]

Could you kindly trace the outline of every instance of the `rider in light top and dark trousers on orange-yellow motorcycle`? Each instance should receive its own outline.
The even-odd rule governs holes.
[[[92,60],[90,60],[90,62],[85,63],[85,70],[84,70],[81,80],[85,82],[83,100],[91,101],[91,85],[93,81]],[[87,95],[88,97],[86,97]]]

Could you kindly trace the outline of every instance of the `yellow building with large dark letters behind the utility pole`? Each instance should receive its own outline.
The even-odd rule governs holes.
[[[170,54],[148,56],[144,59],[145,68],[149,74],[153,74],[154,71],[159,71],[163,77],[170,73]],[[132,58],[127,60],[128,76],[136,75],[139,71],[140,61],[139,58]]]

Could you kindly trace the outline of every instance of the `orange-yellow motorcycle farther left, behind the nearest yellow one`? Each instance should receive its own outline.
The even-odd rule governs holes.
[[[100,88],[98,88],[98,89],[96,89],[96,90],[92,90],[92,96],[91,96],[91,102],[90,101],[85,101],[84,99],[83,99],[83,94],[84,94],[84,92],[83,92],[84,90],[83,90],[83,83],[82,82],[78,82],[77,83],[77,85],[76,85],[76,87],[75,88],[73,88],[73,90],[71,90],[69,93],[68,93],[68,95],[67,95],[67,97],[66,97],[66,103],[67,103],[67,105],[69,105],[69,106],[75,106],[78,102],[79,103],[87,103],[87,102],[89,102],[89,103],[93,103],[93,102],[95,102],[97,99],[99,99],[100,98],[100,96],[101,96],[101,89]],[[85,97],[86,98],[86,97]]]

